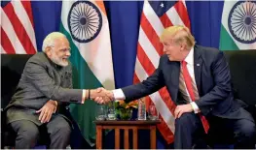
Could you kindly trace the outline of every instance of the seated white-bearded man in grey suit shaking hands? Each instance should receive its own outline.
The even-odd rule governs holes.
[[[68,104],[84,104],[100,95],[96,90],[72,89],[70,46],[63,34],[49,34],[43,51],[27,61],[17,91],[5,108],[7,123],[17,133],[16,148],[33,148],[45,128],[51,139],[49,148],[65,149],[72,125]]]

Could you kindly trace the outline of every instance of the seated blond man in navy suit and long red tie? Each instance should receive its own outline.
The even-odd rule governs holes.
[[[166,86],[174,111],[174,148],[192,148],[199,135],[218,128],[232,131],[236,148],[253,148],[255,123],[235,101],[231,75],[222,51],[195,45],[188,28],[171,26],[161,36],[165,55],[159,67],[141,83],[108,92],[127,103]],[[106,103],[98,97],[96,101]],[[220,133],[225,134],[225,133]]]

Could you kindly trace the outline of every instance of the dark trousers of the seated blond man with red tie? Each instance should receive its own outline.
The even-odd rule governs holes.
[[[211,132],[219,136],[231,133],[231,136],[236,141],[235,148],[255,148],[255,124],[251,120],[226,119],[211,116],[208,121]],[[184,113],[180,118],[175,120],[175,149],[191,149],[197,140],[201,138],[206,139],[206,135],[204,134],[199,115],[194,112]]]

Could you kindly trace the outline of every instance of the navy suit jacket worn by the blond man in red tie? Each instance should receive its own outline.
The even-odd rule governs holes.
[[[204,116],[209,114],[223,118],[249,118],[251,116],[234,101],[230,70],[224,53],[216,48],[195,45],[194,70],[200,99],[196,104]],[[123,88],[126,102],[154,93],[166,86],[176,105],[187,104],[179,92],[180,62],[169,61],[166,55],[159,67],[141,83]]]

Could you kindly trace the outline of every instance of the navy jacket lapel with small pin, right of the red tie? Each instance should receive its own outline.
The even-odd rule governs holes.
[[[195,78],[197,83],[197,88],[199,95],[201,96],[201,65],[202,65],[202,59],[201,59],[201,53],[200,49],[197,45],[194,47],[194,72],[195,72]]]

